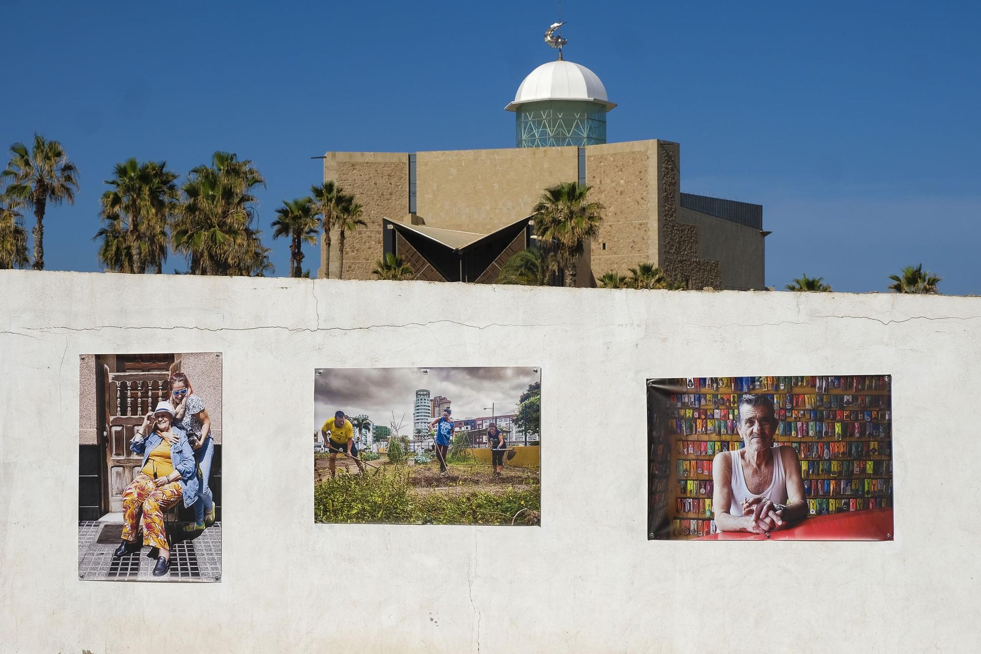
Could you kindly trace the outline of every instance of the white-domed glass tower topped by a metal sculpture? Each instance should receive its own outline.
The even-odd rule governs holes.
[[[558,48],[558,61],[542,64],[518,86],[514,102],[504,109],[515,113],[519,148],[553,145],[599,145],[606,142],[606,112],[616,107],[606,97],[599,77],[579,64],[562,59],[566,39],[545,32],[545,42]]]

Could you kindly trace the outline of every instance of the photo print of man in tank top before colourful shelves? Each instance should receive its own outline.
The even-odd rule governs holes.
[[[892,539],[891,384],[647,379],[648,538]]]

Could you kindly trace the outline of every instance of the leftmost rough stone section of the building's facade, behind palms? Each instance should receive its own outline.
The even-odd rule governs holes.
[[[382,219],[402,220],[409,212],[409,156],[404,152],[328,152],[324,159],[324,179],[333,179],[353,193],[363,207],[361,219],[367,226],[346,234],[344,243],[345,279],[374,279],[375,262],[382,258]],[[336,232],[331,234],[330,277],[340,273]],[[321,270],[327,277],[324,243],[321,243]]]

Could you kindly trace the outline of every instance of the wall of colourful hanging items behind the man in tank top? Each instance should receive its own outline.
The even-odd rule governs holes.
[[[688,377],[647,382],[648,537],[715,532],[712,459],[739,449],[739,400],[773,400],[774,444],[791,445],[810,515],[893,504],[889,376]]]

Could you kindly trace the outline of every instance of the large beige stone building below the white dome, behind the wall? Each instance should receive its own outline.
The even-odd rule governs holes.
[[[490,234],[528,217],[546,186],[590,184],[603,222],[579,270],[580,285],[640,263],[689,288],[764,287],[762,207],[681,192],[678,143],[642,140],[585,147],[418,153],[328,152],[324,178],[363,206],[367,226],[346,234],[343,277],[370,279],[387,220]],[[330,277],[338,277],[332,235]],[[321,244],[319,277],[328,277]],[[484,276],[482,281],[492,281]]]

